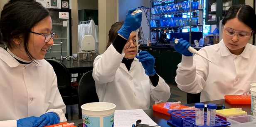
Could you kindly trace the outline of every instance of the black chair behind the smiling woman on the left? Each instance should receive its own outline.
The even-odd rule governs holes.
[[[47,62],[49,62],[56,74],[59,93],[62,96],[62,100],[65,105],[74,105],[79,103],[78,99],[78,91],[72,89],[71,86],[71,74],[66,66],[55,59],[45,58]],[[68,115],[66,113],[66,118],[68,119]]]

